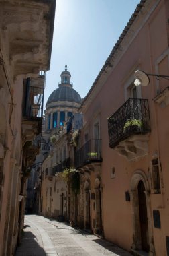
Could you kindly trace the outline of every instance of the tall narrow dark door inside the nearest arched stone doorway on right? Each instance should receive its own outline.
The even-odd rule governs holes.
[[[142,238],[142,250],[149,251],[148,243],[148,216],[147,216],[147,206],[146,206],[146,195],[144,193],[145,187],[143,181],[139,181],[138,184],[138,199],[139,199],[139,222],[140,231]]]

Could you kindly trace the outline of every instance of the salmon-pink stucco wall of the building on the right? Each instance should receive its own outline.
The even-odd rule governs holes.
[[[160,211],[161,228],[154,228],[152,218],[152,233],[156,255],[166,255],[166,236],[169,234],[169,161],[168,161],[168,131],[169,106],[161,108],[152,99],[157,95],[156,86],[158,82],[155,77],[150,77],[150,84],[142,87],[142,98],[148,99],[150,108],[151,133],[148,141],[148,156],[129,162],[123,156],[109,148],[107,118],[127,100],[125,96],[125,86],[129,77],[132,77],[136,69],[142,69],[146,73],[156,73],[168,75],[168,23],[169,17],[167,1],[148,1],[152,7],[152,13],[140,15],[136,22],[139,24],[135,30],[135,36],[129,44],[122,48],[118,63],[116,63],[107,81],[101,90],[97,92],[95,98],[90,102],[87,109],[84,109],[84,123],[89,129],[90,136],[93,137],[93,117],[96,115],[100,120],[100,130],[102,139],[101,177],[103,184],[103,227],[105,238],[113,241],[117,245],[129,250],[133,241],[133,226],[131,215],[131,201],[125,201],[125,191],[130,191],[131,177],[135,170],[142,170],[150,184],[150,161],[157,152],[160,157],[162,172],[160,172],[162,194],[150,194],[151,214],[153,210]],[[148,17],[149,16],[149,17]],[[132,27],[131,27],[132,30]],[[162,59],[162,61],[158,61]],[[104,72],[104,71],[103,71]],[[166,80],[159,82],[161,90],[168,86]],[[97,87],[97,85],[96,85]],[[91,92],[91,95],[95,90]],[[115,178],[111,179],[111,168],[115,167]]]

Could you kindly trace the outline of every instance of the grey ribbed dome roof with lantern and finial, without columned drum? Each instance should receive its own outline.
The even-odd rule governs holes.
[[[82,99],[78,92],[72,88],[72,82],[70,82],[70,72],[67,71],[67,66],[65,66],[65,71],[61,73],[61,82],[59,82],[56,90],[50,94],[47,104],[57,101],[68,101],[81,103]]]

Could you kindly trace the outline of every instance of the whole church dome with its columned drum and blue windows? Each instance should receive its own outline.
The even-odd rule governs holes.
[[[71,74],[67,65],[65,65],[65,70],[62,71],[60,77],[61,81],[58,83],[58,88],[50,94],[46,103],[46,131],[48,132],[63,127],[74,113],[78,113],[82,101],[78,92],[72,88]]]

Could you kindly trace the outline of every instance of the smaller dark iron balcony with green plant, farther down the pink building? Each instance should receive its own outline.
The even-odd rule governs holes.
[[[75,168],[80,168],[94,162],[102,162],[101,139],[90,139],[75,153]]]

